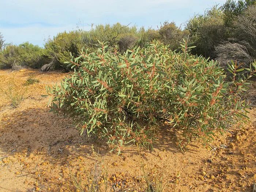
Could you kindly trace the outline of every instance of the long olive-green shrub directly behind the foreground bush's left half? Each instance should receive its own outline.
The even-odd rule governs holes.
[[[46,55],[53,61],[55,68],[66,68],[65,61],[70,60],[70,53],[78,56],[82,47],[96,51],[95,46],[98,41],[107,41],[110,46],[119,45],[120,51],[124,52],[128,47],[139,42],[143,35],[143,30],[138,30],[135,26],[121,25],[116,23],[110,25],[97,25],[89,31],[76,30],[59,33],[52,39],[48,39],[45,44]]]

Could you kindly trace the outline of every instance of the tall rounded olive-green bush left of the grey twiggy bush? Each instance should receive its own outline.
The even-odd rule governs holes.
[[[227,29],[223,21],[223,12],[217,6],[206,10],[204,15],[195,15],[186,26],[190,34],[190,41],[196,46],[193,54],[203,55],[214,59],[216,57],[215,46],[228,37]]]

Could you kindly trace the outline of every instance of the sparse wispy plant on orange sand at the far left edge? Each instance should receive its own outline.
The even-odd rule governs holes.
[[[18,84],[14,76],[10,79],[6,79],[1,76],[0,80],[0,94],[3,95],[3,97],[5,97],[8,101],[10,101],[11,105],[16,108],[24,99],[25,94],[27,93],[27,88],[22,84]]]

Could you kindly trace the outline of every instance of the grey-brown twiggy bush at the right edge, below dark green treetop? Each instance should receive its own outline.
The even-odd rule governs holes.
[[[228,42],[216,46],[217,59],[223,65],[236,60],[248,67],[256,59],[256,6],[248,7],[238,16],[231,34]]]

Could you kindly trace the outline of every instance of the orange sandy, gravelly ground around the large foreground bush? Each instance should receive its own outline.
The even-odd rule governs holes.
[[[0,71],[3,78],[15,76],[20,84],[30,75],[40,82],[27,86],[26,99],[18,108],[12,108],[0,95],[0,192],[68,191],[68,187],[75,191],[69,173],[87,180],[96,158],[92,145],[112,180],[120,177],[139,185],[142,162],[163,173],[167,191],[174,191],[177,175],[175,191],[252,191],[256,182],[256,108],[250,110],[251,122],[245,128],[230,129],[210,146],[192,142],[183,152],[174,132],[165,130],[159,133],[153,152],[142,150],[139,155],[133,146],[117,156],[109,153],[101,140],[79,136],[71,120],[48,112],[49,97],[41,97],[46,94],[45,86],[68,74]]]

